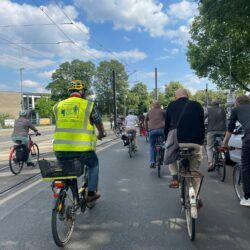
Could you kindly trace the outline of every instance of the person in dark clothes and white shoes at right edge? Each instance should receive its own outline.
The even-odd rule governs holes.
[[[250,98],[246,95],[239,96],[235,104],[236,107],[232,110],[223,146],[228,147],[236,121],[239,121],[244,130],[241,149],[244,198],[240,201],[240,205],[250,206]]]

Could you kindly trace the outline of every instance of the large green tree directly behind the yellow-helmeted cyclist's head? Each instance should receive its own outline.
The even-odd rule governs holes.
[[[66,99],[69,95],[68,87],[72,80],[82,80],[90,92],[95,75],[95,65],[92,62],[73,60],[62,63],[52,74],[52,82],[46,89],[51,91],[51,99],[59,101]]]

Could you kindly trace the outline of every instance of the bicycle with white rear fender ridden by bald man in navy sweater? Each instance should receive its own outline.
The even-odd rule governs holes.
[[[185,209],[188,235],[191,241],[195,239],[195,223],[198,219],[198,197],[204,176],[196,170],[190,170],[189,158],[192,157],[193,148],[183,147],[179,151],[179,182],[181,184],[181,204]],[[199,179],[198,192],[195,192],[193,182]]]

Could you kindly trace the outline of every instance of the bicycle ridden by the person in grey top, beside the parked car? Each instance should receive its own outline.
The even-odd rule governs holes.
[[[225,148],[221,147],[224,136],[214,135],[213,160],[212,164],[218,174],[220,181],[224,182],[226,177]]]

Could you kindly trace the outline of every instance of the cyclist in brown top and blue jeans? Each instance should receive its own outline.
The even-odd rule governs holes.
[[[149,131],[150,168],[155,168],[156,138],[158,136],[164,137],[165,115],[166,112],[161,109],[160,102],[154,101],[145,119],[146,130]]]

